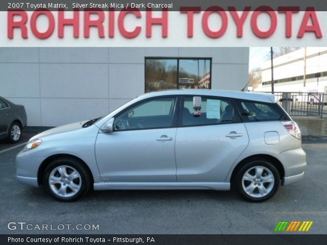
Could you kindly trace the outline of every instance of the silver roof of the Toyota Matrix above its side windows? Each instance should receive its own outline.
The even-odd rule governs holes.
[[[138,96],[138,99],[147,99],[155,96],[164,95],[199,95],[199,96],[219,96],[242,100],[259,101],[266,103],[274,103],[275,96],[271,93],[260,92],[243,92],[233,90],[217,90],[217,89],[172,89],[157,92],[149,92]]]

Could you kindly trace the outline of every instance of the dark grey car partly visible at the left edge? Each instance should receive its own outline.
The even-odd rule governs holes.
[[[0,97],[0,139],[7,138],[11,143],[20,140],[21,129],[27,125],[24,106]]]

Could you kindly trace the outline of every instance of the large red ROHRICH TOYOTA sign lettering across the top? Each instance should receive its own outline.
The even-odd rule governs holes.
[[[249,24],[252,35],[261,39],[273,36],[277,29],[285,30],[285,38],[293,36],[303,38],[312,34],[315,38],[323,37],[319,17],[312,7],[308,7],[306,11],[301,13],[297,28],[294,27],[293,18],[295,15],[299,15],[299,7],[279,7],[278,11],[274,11],[268,6],[261,6],[254,11],[250,10],[250,7],[246,7],[244,11],[236,11],[235,7],[228,7],[227,10],[224,10],[219,6],[212,6],[201,11],[200,7],[182,7],[179,11],[179,18],[180,21],[184,22],[182,27],[185,28],[180,31],[188,38],[193,38],[198,35],[198,32],[202,32],[206,37],[215,39],[224,36],[227,29],[232,26],[236,29],[233,35],[242,38],[244,26]],[[115,38],[117,35],[124,38],[136,38],[139,35],[152,38],[153,27],[160,26],[161,37],[168,38],[170,36],[169,22],[172,21],[171,24],[179,23],[170,20],[169,15],[173,12],[168,11],[168,9],[155,12],[156,16],[153,15],[151,9],[142,12],[137,8],[127,8],[123,11],[90,8],[84,9],[84,11],[76,9],[71,16],[67,16],[67,12],[63,10],[49,11],[42,8],[34,12],[8,11],[7,37],[9,39],[17,38],[14,30],[18,29],[20,36],[24,39],[31,35],[38,39],[47,39],[53,35],[64,38],[65,35],[68,35],[65,28],[71,26],[74,38],[89,38],[92,28],[97,29],[97,38]],[[263,15],[268,18],[265,29],[260,27],[261,16]],[[127,16],[135,20],[140,19],[142,22],[136,22],[134,27],[131,27],[129,23],[129,28],[127,28],[125,21]],[[201,30],[194,29],[195,16],[200,16]],[[47,22],[45,28],[40,27],[41,17]],[[212,25],[210,22],[214,17],[218,17],[218,21]]]

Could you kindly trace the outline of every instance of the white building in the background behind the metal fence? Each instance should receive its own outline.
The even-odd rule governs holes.
[[[327,92],[327,47],[303,47],[273,59],[273,65],[275,92]],[[254,90],[269,92],[270,60],[261,71],[262,83]]]

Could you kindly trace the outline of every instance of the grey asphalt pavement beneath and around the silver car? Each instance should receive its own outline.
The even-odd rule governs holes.
[[[258,204],[235,192],[209,190],[92,191],[77,202],[62,203],[42,188],[15,180],[15,156],[24,146],[3,152],[12,146],[0,142],[0,234],[273,234],[279,220],[312,220],[307,233],[327,233],[326,138],[304,139],[305,178]],[[10,222],[15,230],[8,229]],[[18,222],[31,224],[32,230],[20,230]],[[42,230],[44,224],[48,230]],[[69,230],[58,230],[66,224]],[[78,224],[99,229],[77,230]]]

